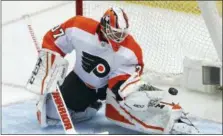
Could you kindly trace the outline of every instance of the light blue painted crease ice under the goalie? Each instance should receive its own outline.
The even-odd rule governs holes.
[[[61,125],[41,129],[36,120],[35,102],[25,101],[2,109],[3,134],[64,134]],[[192,118],[202,134],[222,134],[222,124]],[[92,120],[75,124],[79,134],[141,134],[112,124],[104,115],[104,106]]]

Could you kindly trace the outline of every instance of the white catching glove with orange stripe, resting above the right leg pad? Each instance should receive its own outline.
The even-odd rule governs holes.
[[[123,99],[120,104],[135,111],[146,111],[149,106],[159,104],[164,97],[164,91],[140,80],[138,72],[120,86],[118,93]]]

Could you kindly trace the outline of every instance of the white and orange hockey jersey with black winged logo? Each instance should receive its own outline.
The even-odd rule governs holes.
[[[83,16],[75,16],[48,31],[42,47],[60,53],[76,51],[74,72],[86,85],[112,88],[118,81],[126,80],[143,67],[142,50],[131,35],[114,48],[111,42],[101,41],[98,36],[99,22]]]

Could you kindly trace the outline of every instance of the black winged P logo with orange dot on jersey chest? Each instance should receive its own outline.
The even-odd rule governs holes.
[[[103,78],[110,72],[108,62],[98,56],[82,52],[82,68],[87,72],[93,72],[97,77]]]

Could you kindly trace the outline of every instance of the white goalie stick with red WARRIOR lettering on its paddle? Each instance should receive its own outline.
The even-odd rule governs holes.
[[[23,18],[26,21],[26,24],[27,24],[29,33],[32,37],[32,40],[34,42],[35,48],[36,48],[37,52],[39,53],[40,46],[39,46],[38,40],[35,36],[35,33],[33,31],[29,15],[24,15]],[[77,132],[75,131],[74,125],[72,123],[70,114],[68,112],[68,109],[66,107],[66,104],[64,102],[64,99],[61,95],[61,91],[59,89],[58,84],[57,84],[56,92],[51,93],[51,96],[53,98],[56,110],[57,110],[57,112],[60,116],[60,119],[61,119],[61,122],[62,122],[65,133],[66,134],[77,134]]]

